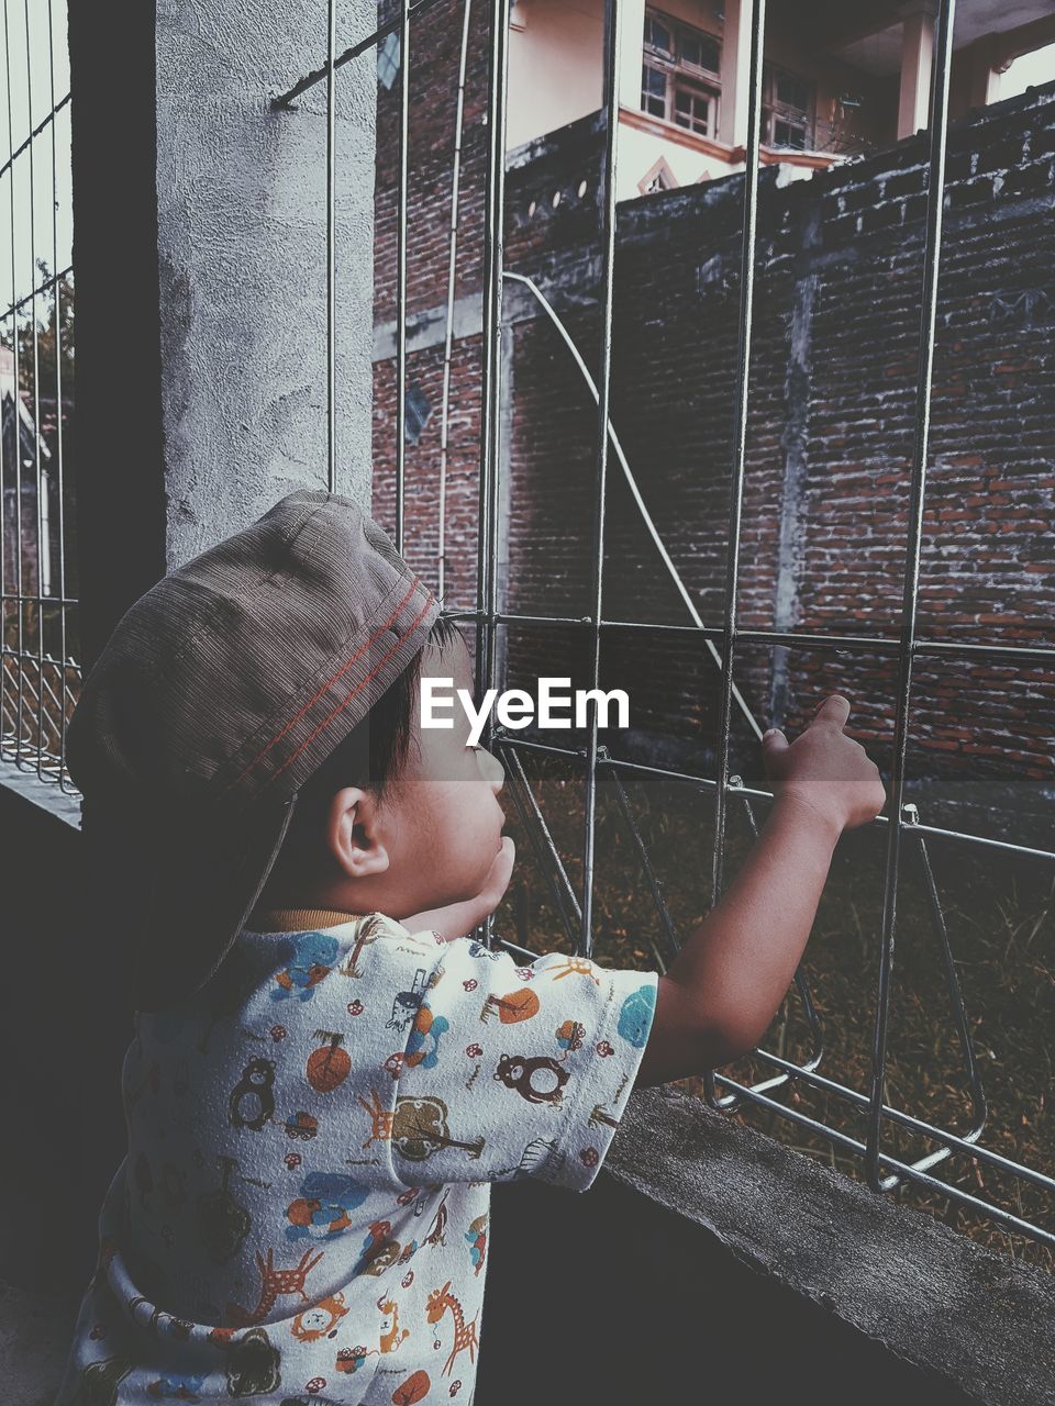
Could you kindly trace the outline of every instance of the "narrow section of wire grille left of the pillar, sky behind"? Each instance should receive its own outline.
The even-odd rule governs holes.
[[[75,792],[73,269],[65,0],[3,0],[8,155],[0,167],[4,762]]]

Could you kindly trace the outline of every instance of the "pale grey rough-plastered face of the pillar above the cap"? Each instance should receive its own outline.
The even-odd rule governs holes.
[[[340,6],[338,52],[370,32]],[[297,488],[326,486],[322,0],[159,0],[158,259],[172,569]],[[336,75],[338,477],[370,484],[374,55]]]

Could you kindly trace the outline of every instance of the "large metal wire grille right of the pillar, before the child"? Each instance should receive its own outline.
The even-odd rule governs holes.
[[[274,100],[279,108],[288,108],[298,94],[316,83],[326,83],[331,129],[328,145],[329,170],[329,297],[331,297],[331,385],[329,385],[329,416],[331,416],[331,468],[329,486],[333,489],[333,371],[332,371],[332,332],[333,332],[333,83],[336,72],[350,58],[367,52],[371,46],[398,34],[401,56],[399,83],[399,162],[398,162],[398,205],[397,205],[397,330],[395,330],[395,385],[397,412],[394,416],[397,447],[395,447],[395,537],[404,544],[404,502],[405,502],[405,439],[407,439],[407,249],[408,249],[408,111],[409,111],[409,55],[412,44],[412,21],[425,11],[433,8],[437,0],[399,0],[398,14],[383,24],[376,34],[369,35],[353,48],[338,55],[335,52],[335,11],[336,0],[329,0],[329,51],[326,63],[316,72],[301,79],[288,93]],[[449,0],[453,4],[453,0]],[[909,513],[909,527],[903,543],[904,588],[900,609],[900,630],[896,637],[875,638],[844,634],[816,634],[805,631],[757,630],[741,628],[737,623],[737,595],[738,571],[741,555],[741,508],[744,495],[744,463],[747,412],[751,371],[751,335],[753,335],[753,294],[755,276],[755,232],[758,217],[758,172],[760,172],[760,135],[761,135],[761,96],[762,96],[762,38],[765,32],[765,0],[754,0],[751,7],[750,25],[750,122],[747,139],[747,165],[743,179],[743,246],[741,246],[741,277],[740,277],[740,308],[738,308],[738,347],[736,367],[736,391],[730,415],[733,419],[733,456],[730,465],[730,502],[729,502],[729,554],[724,582],[724,613],[720,626],[705,624],[699,617],[688,592],[681,583],[677,571],[665,553],[664,544],[648,517],[647,509],[637,494],[633,475],[626,457],[622,453],[618,436],[612,430],[609,420],[610,408],[610,377],[612,377],[612,291],[615,267],[615,229],[616,229],[616,128],[613,114],[619,110],[619,0],[606,0],[605,7],[605,153],[603,153],[603,198],[601,201],[601,291],[598,297],[601,316],[599,356],[596,359],[596,380],[587,370],[584,359],[578,354],[575,344],[560,318],[546,301],[542,291],[520,274],[506,273],[504,267],[504,215],[505,215],[505,104],[506,104],[506,39],[509,28],[509,0],[490,0],[490,90],[487,101],[487,129],[488,129],[488,160],[484,198],[484,274],[482,274],[482,352],[481,352],[481,457],[480,457],[480,499],[478,499],[478,569],[477,569],[477,600],[475,609],[457,612],[457,617],[471,621],[475,628],[477,641],[477,685],[480,689],[491,688],[497,683],[499,671],[501,650],[497,645],[499,631],[511,626],[542,626],[551,630],[578,631],[591,664],[591,682],[596,688],[599,682],[601,641],[606,631],[634,628],[639,631],[670,630],[671,626],[648,626],[636,621],[608,620],[603,614],[603,560],[605,560],[605,506],[606,481],[610,456],[615,454],[619,470],[627,479],[634,494],[637,508],[644,519],[656,547],[660,551],[665,568],[671,574],[679,591],[684,605],[692,619],[691,626],[674,627],[691,631],[699,638],[715,665],[720,669],[720,717],[716,737],[717,766],[716,775],[702,776],[685,772],[675,772],[661,766],[644,766],[630,761],[618,761],[608,756],[598,742],[596,704],[592,704],[588,724],[587,747],[582,751],[553,747],[537,740],[530,740],[509,733],[495,731],[491,744],[504,756],[508,773],[508,786],[516,803],[518,813],[528,830],[532,841],[533,855],[549,886],[554,908],[560,914],[564,927],[573,939],[575,949],[582,955],[589,955],[594,949],[594,873],[595,873],[595,845],[596,845],[596,807],[598,786],[601,779],[610,783],[616,797],[619,813],[633,841],[634,852],[639,858],[641,873],[657,905],[663,929],[672,949],[677,950],[678,939],[674,924],[663,901],[660,884],[656,879],[653,863],[641,835],[634,824],[634,817],[626,790],[623,776],[647,776],[661,779],[671,786],[688,786],[702,790],[713,797],[715,804],[715,844],[710,856],[712,869],[712,898],[717,900],[724,882],[724,859],[727,849],[729,823],[733,811],[738,811],[746,818],[751,830],[755,828],[754,807],[765,804],[771,796],[764,790],[746,787],[737,776],[730,775],[730,727],[734,713],[743,714],[753,734],[760,738],[761,728],[751,716],[743,695],[737,689],[734,673],[737,651],[748,645],[778,645],[786,650],[816,650],[838,651],[841,654],[869,654],[883,655],[896,661],[897,692],[895,710],[895,748],[893,769],[889,793],[889,820],[881,817],[875,824],[885,827],[885,880],[883,880],[883,915],[881,932],[881,959],[875,990],[875,1024],[872,1040],[872,1073],[868,1088],[854,1088],[838,1078],[820,1073],[823,1060],[823,1033],[817,1021],[810,993],[802,974],[796,976],[796,987],[802,1000],[807,1025],[812,1031],[814,1049],[807,1060],[791,1062],[781,1054],[761,1049],[757,1059],[772,1070],[771,1077],[754,1084],[733,1080],[724,1074],[713,1074],[706,1080],[706,1097],[716,1108],[731,1109],[743,1105],[744,1101],[768,1109],[775,1118],[786,1119],[812,1135],[817,1135],[830,1142],[834,1149],[859,1160],[868,1181],[875,1191],[890,1191],[904,1184],[916,1184],[941,1192],[951,1202],[965,1206],[972,1212],[989,1218],[992,1222],[1010,1232],[1028,1236],[1042,1244],[1055,1246],[1055,1234],[1038,1223],[1037,1219],[1025,1213],[1016,1213],[1006,1205],[997,1204],[983,1195],[972,1195],[962,1187],[952,1185],[935,1175],[935,1168],[950,1164],[954,1159],[973,1159],[976,1166],[990,1168],[1009,1178],[1011,1187],[1030,1184],[1047,1197],[1055,1191],[1055,1181],[1051,1177],[1028,1166],[1023,1166],[1014,1159],[1002,1156],[987,1149],[982,1142],[986,1126],[986,1099],[982,1088],[978,1060],[972,1047],[971,1028],[964,1010],[957,967],[950,949],[945,918],[938,897],[934,873],[930,863],[928,844],[933,839],[962,846],[966,853],[979,849],[1003,852],[1051,865],[1055,853],[1041,848],[999,841],[985,835],[966,834],[958,830],[923,824],[916,807],[904,803],[906,755],[912,727],[913,706],[913,664],[920,655],[944,657],[955,661],[1000,661],[1003,664],[1027,668],[1031,665],[1049,666],[1055,659],[1055,650],[1037,647],[997,647],[971,645],[957,641],[933,641],[917,638],[917,592],[920,576],[920,550],[923,534],[923,505],[927,478],[928,434],[930,434],[930,396],[934,366],[934,333],[935,308],[938,288],[938,264],[942,242],[942,194],[945,173],[945,148],[948,131],[948,98],[950,73],[952,59],[952,28],[954,28],[955,0],[941,0],[938,6],[931,90],[931,115],[927,134],[930,152],[930,173],[927,188],[926,214],[926,245],[923,253],[921,281],[921,319],[919,329],[919,377],[916,388],[916,434],[912,464],[912,499]],[[463,14],[467,13],[463,11]],[[452,18],[452,24],[454,20]],[[464,84],[464,42],[468,35],[468,24],[463,28],[463,63],[461,83]],[[390,55],[392,48],[387,49]],[[387,70],[385,70],[387,72]],[[385,80],[385,87],[388,82]],[[459,101],[459,122],[461,120],[461,101]],[[457,153],[460,152],[460,132],[454,138],[456,170],[454,183],[457,191]],[[453,239],[457,236],[457,207],[454,202]],[[452,254],[453,260],[453,254]],[[513,614],[501,612],[498,607],[498,537],[497,522],[499,495],[508,488],[504,465],[499,461],[499,405],[502,395],[502,294],[504,284],[516,280],[528,287],[528,291],[537,299],[542,312],[556,325],[567,346],[575,356],[580,371],[589,391],[596,401],[596,457],[594,479],[594,534],[592,534],[592,589],[591,610],[587,617],[547,616],[547,614]],[[447,308],[450,322],[450,301]],[[447,326],[445,370],[450,361],[450,326]],[[446,385],[446,382],[445,382]],[[446,396],[446,389],[445,389]],[[446,406],[445,406],[446,415]],[[446,450],[446,436],[443,439]],[[442,561],[442,547],[440,547]],[[557,846],[546,827],[543,813],[532,793],[522,765],[522,754],[542,752],[563,756],[573,765],[582,769],[585,787],[585,813],[582,817],[582,884],[575,890]],[[899,875],[903,869],[903,858],[913,852],[921,866],[924,890],[930,905],[930,920],[937,938],[938,950],[952,1000],[954,1024],[957,1040],[962,1056],[965,1083],[969,1090],[972,1105],[972,1121],[964,1135],[937,1126],[919,1116],[900,1111],[886,1101],[885,1073],[888,1062],[888,1031],[890,1018],[890,983],[895,962],[895,938],[897,934],[897,893]],[[506,942],[512,950],[523,950],[512,942]],[[793,1092],[796,1088],[812,1088],[829,1095],[830,1099],[841,1102],[854,1112],[864,1114],[867,1119],[867,1136],[852,1137],[830,1123],[810,1116],[795,1107]],[[778,1097],[778,1094],[785,1097]],[[788,1098],[786,1095],[792,1095]],[[906,1160],[893,1156],[888,1147],[885,1132],[889,1125],[896,1125],[917,1136],[921,1144],[930,1144],[930,1150]]]

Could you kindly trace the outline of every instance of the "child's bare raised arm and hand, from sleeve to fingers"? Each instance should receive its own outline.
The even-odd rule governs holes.
[[[637,1085],[716,1069],[754,1049],[788,990],[813,927],[843,830],[875,818],[879,772],[827,697],[803,734],[762,740],[774,806],[727,893],[693,929],[665,977]]]

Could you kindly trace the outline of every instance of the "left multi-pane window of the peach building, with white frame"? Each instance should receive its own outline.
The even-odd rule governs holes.
[[[641,111],[715,136],[722,42],[713,34],[648,10],[644,17]],[[709,82],[702,82],[709,79]]]

